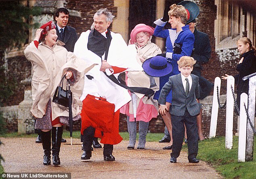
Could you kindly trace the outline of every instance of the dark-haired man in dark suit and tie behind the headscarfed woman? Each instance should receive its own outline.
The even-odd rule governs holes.
[[[63,47],[65,47],[67,51],[73,52],[78,35],[75,28],[67,25],[69,21],[69,11],[66,8],[57,9],[55,21],[58,39],[65,43]]]

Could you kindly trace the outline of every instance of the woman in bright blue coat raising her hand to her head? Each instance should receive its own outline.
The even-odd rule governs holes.
[[[187,20],[191,19],[189,10],[185,9],[184,6],[172,4],[170,10],[168,11],[168,16],[162,19],[157,19],[154,23],[157,25],[155,27],[154,36],[162,37],[166,39],[166,54],[165,58],[168,62],[172,64],[172,72],[166,76],[160,77],[160,89],[154,95],[154,99],[159,98],[160,91],[164,84],[168,81],[170,76],[179,74],[177,61],[182,56],[191,56],[193,51],[195,37],[193,33],[189,30],[189,25],[186,25]],[[198,15],[198,14],[197,14]],[[169,18],[169,21],[168,21]],[[172,26],[171,29],[164,29],[164,26],[168,23]],[[166,105],[170,107],[172,103],[172,91],[166,98]],[[170,142],[164,149],[172,148],[172,125],[170,120],[170,113],[166,113],[162,116],[164,123],[166,124],[168,131],[170,133]]]

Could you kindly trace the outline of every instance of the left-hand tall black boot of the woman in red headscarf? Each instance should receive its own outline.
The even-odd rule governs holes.
[[[48,132],[42,132],[41,133],[41,137],[42,137],[42,145],[43,145],[43,149],[44,149],[44,161],[43,164],[44,165],[50,165],[50,131]]]

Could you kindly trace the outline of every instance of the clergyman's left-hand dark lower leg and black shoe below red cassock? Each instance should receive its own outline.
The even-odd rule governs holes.
[[[84,152],[82,153],[82,156],[81,156],[81,159],[82,160],[88,160],[92,157],[92,150],[91,150],[91,147],[92,147],[92,141],[93,141],[93,137],[94,137],[94,132],[95,132],[95,129],[92,128],[91,126],[86,128],[83,132],[83,149],[84,149]]]

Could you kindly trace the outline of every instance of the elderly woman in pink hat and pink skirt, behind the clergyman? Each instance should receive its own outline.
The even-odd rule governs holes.
[[[129,45],[133,45],[137,50],[137,62],[143,62],[162,53],[161,49],[151,42],[154,28],[138,24],[132,29]],[[154,91],[159,90],[159,78],[151,77],[143,71],[129,71],[126,73],[127,86],[146,87]],[[158,115],[158,103],[153,97],[145,97],[142,94],[131,93],[132,101],[121,109],[121,113],[127,115],[127,127],[129,132],[129,144],[127,149],[134,149],[136,143],[136,121],[138,127],[138,146],[137,149],[145,149],[146,135],[149,127],[149,121]]]

